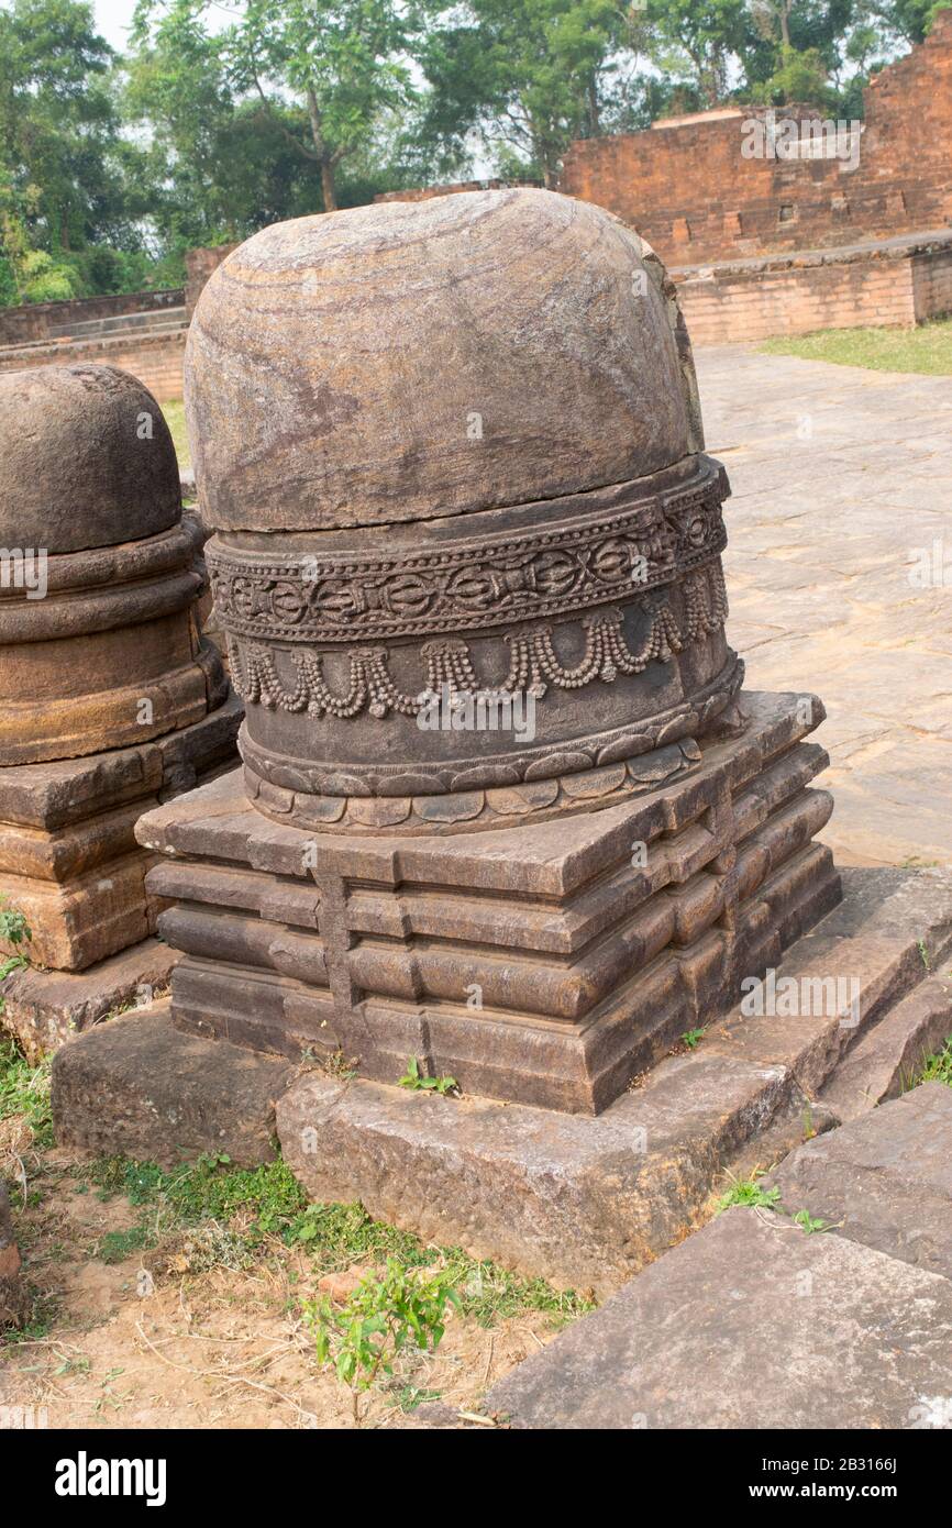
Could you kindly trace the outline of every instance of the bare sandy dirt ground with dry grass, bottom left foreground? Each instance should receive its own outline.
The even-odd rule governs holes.
[[[17,1120],[3,1122],[0,1132],[8,1181],[23,1181],[26,1172],[28,1201],[15,1227],[37,1296],[32,1328],[0,1339],[0,1404],[46,1407],[47,1426],[57,1429],[356,1426],[350,1389],[315,1360],[300,1300],[345,1293],[368,1268],[329,1279],[306,1251],[277,1239],[251,1267],[241,1267],[240,1254],[229,1267],[240,1227],[222,1230],[212,1267],[203,1232],[104,1262],[104,1236],[128,1232],[141,1209],[84,1190],[70,1175],[76,1158],[69,1154],[32,1154]],[[359,1424],[414,1426],[405,1407],[417,1392],[472,1409],[555,1331],[544,1311],[491,1328],[449,1311],[437,1352],[402,1354],[393,1378],[364,1395]]]

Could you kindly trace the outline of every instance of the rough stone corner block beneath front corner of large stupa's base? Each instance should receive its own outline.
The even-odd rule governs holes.
[[[594,1120],[309,1074],[278,1140],[313,1199],[605,1293],[697,1222],[720,1163],[788,1099],[779,1068],[703,1056],[662,1062]]]

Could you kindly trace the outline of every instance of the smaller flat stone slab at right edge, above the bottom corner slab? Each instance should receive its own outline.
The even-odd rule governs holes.
[[[952,1279],[952,1088],[923,1083],[792,1152],[773,1172],[790,1213]]]

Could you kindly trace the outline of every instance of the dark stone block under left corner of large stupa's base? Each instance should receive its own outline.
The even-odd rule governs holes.
[[[275,1057],[182,1034],[157,1002],[57,1051],[57,1140],[162,1166],[206,1151],[255,1166],[275,1155],[275,1100],[293,1074]]]

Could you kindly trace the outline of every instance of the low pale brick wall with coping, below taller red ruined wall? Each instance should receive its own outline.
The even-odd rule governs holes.
[[[911,329],[952,312],[952,232],[671,274],[695,345],[816,329]]]

